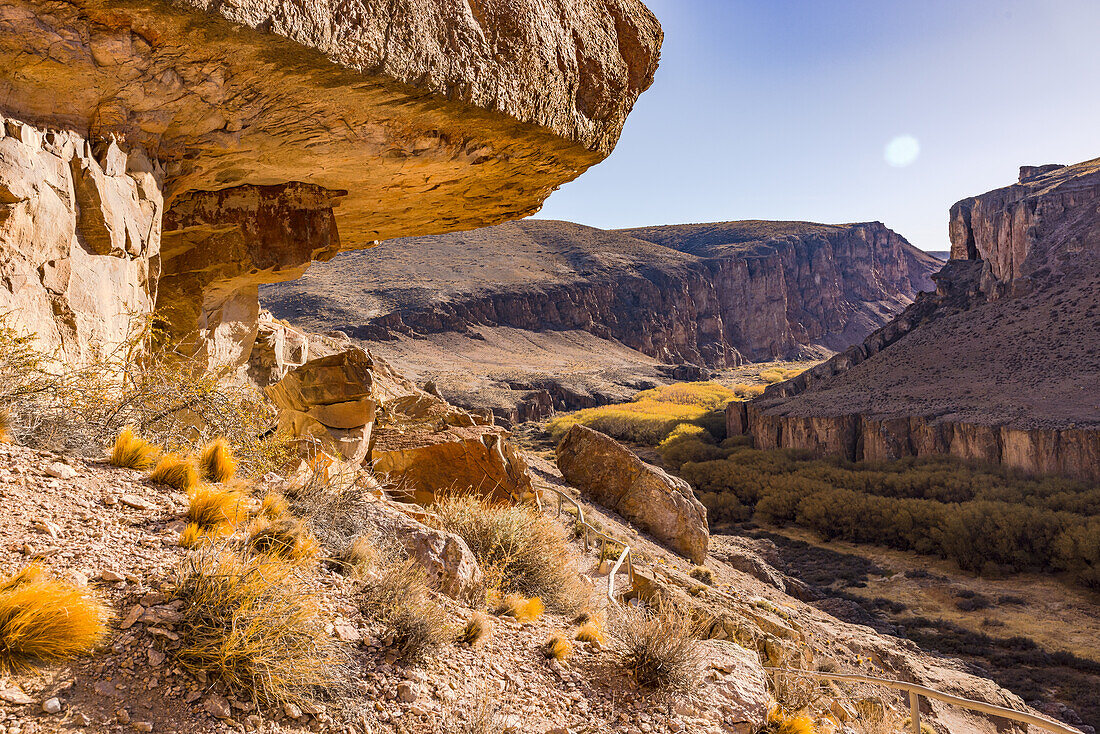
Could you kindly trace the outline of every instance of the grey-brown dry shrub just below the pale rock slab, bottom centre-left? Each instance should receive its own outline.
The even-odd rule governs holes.
[[[447,642],[447,615],[428,589],[424,568],[413,559],[383,567],[363,587],[360,610],[382,623],[407,664],[425,662]]]

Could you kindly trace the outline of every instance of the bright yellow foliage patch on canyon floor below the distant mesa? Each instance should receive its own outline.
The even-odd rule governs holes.
[[[560,416],[547,429],[560,438],[579,423],[622,440],[656,445],[681,424],[697,424],[735,397],[732,390],[714,382],[676,383],[642,391],[630,403]]]

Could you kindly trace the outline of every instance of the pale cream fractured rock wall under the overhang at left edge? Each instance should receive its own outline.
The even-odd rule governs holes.
[[[134,336],[133,317],[152,310],[161,270],[161,174],[113,141],[0,118],[8,326],[76,364]]]

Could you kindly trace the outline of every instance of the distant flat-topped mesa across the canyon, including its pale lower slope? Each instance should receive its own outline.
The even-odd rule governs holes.
[[[387,256],[397,252],[408,254]],[[371,346],[449,399],[522,420],[623,399],[647,381],[845,349],[931,289],[939,264],[879,222],[526,220],[349,253],[262,298],[280,318]],[[461,371],[488,372],[490,384]]]

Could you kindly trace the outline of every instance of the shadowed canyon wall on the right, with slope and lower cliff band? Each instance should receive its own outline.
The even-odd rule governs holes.
[[[937,291],[728,425],[851,459],[947,453],[1100,480],[1100,160],[952,207]]]

